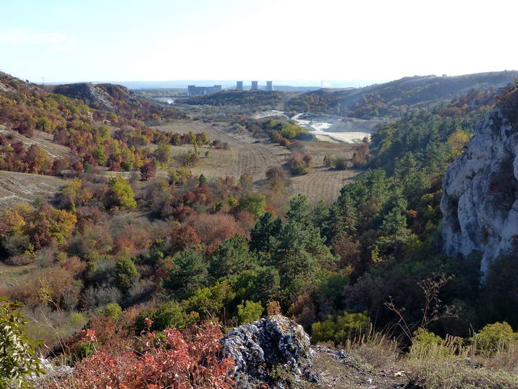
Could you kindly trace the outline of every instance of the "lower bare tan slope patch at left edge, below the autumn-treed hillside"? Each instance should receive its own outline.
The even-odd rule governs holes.
[[[48,201],[65,186],[65,180],[50,175],[0,171],[0,209],[17,202]]]

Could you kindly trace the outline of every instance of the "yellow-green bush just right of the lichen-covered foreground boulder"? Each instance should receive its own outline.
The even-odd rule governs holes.
[[[354,339],[367,332],[369,327],[369,316],[367,312],[349,314],[336,317],[328,316],[326,321],[318,321],[311,326],[313,343],[332,341],[335,345],[345,343],[347,339]]]

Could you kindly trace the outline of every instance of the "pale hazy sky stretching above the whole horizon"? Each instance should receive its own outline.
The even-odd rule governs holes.
[[[0,70],[71,82],[518,69],[517,15],[517,0],[0,0]]]

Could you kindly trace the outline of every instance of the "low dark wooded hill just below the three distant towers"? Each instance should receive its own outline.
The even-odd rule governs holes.
[[[191,97],[182,102],[191,105],[239,105],[276,107],[285,94],[278,91],[222,91],[210,95]]]

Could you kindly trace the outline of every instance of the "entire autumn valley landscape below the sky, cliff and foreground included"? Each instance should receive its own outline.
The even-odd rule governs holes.
[[[0,297],[21,304],[0,325],[29,319],[26,381],[142,388],[189,361],[193,388],[517,387],[504,73],[175,104],[0,73]]]

